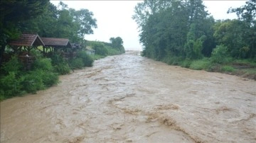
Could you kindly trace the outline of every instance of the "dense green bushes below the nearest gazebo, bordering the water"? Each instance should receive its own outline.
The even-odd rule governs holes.
[[[53,72],[51,60],[38,56],[31,71],[24,71],[18,57],[3,64],[0,76],[0,100],[20,96],[58,84],[58,74]]]

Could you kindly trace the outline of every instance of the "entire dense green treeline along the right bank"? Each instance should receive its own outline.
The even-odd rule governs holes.
[[[216,63],[232,59],[255,61],[255,0],[227,10],[237,13],[238,19],[234,20],[215,21],[205,8],[202,0],[145,0],[137,4],[133,18],[141,31],[143,55],[181,65],[198,59],[206,61],[206,57]]]

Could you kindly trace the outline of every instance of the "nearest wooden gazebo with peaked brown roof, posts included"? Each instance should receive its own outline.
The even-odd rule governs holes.
[[[14,54],[18,55],[18,59],[23,62],[25,69],[29,70],[35,60],[35,58],[30,55],[31,49],[40,45],[44,46],[44,43],[37,34],[23,33],[17,40],[9,42],[8,45],[14,50]]]

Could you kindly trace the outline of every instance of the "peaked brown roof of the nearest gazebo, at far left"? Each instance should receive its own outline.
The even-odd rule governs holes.
[[[43,45],[43,40],[37,34],[23,33],[17,40],[9,42],[9,45],[14,46],[39,46]]]

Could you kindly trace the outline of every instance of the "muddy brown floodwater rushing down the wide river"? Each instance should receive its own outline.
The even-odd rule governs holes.
[[[106,57],[1,102],[1,142],[256,142],[256,82]]]

